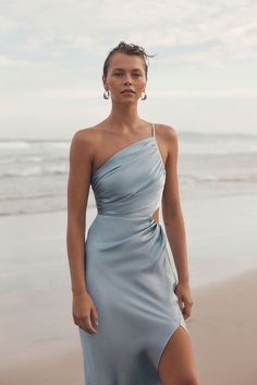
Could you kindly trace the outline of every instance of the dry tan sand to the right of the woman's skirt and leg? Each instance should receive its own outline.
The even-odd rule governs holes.
[[[187,321],[200,385],[257,383],[257,269],[192,290]]]

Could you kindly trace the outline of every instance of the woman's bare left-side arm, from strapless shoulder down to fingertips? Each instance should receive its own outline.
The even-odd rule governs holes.
[[[77,131],[70,148],[68,179],[66,248],[73,293],[73,318],[76,325],[89,334],[97,333],[98,315],[88,294],[85,279],[85,227],[86,207],[90,187],[93,146],[89,133]],[[91,320],[93,317],[93,320]]]

